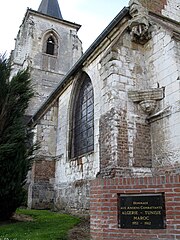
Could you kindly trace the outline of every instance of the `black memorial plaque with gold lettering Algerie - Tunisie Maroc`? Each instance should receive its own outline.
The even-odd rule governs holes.
[[[131,229],[165,228],[163,194],[120,194],[119,226]]]

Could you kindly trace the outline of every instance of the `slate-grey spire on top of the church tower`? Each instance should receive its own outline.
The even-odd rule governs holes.
[[[58,0],[42,0],[38,12],[63,19]]]

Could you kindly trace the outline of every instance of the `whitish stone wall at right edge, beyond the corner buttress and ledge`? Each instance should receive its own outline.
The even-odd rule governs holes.
[[[164,89],[164,99],[154,112],[156,116],[148,116],[153,166],[174,165],[180,160],[179,43],[171,30],[159,27],[147,48],[151,87]]]

